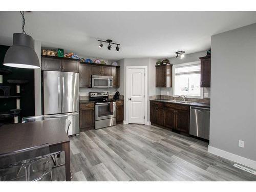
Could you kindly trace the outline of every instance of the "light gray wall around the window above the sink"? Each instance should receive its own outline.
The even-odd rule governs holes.
[[[210,48],[209,48],[210,49]],[[207,50],[209,50],[207,49]],[[170,63],[173,65],[177,64],[182,64],[182,63],[187,63],[187,62],[195,62],[199,61],[199,57],[204,57],[207,54],[207,50],[201,51],[201,52],[196,52],[196,53],[190,53],[190,54],[185,54],[185,57],[180,59],[179,57],[172,57],[172,58],[167,58],[169,59]],[[163,60],[163,59],[161,59]],[[207,93],[208,96],[204,96],[204,98],[210,98],[210,88],[204,88],[203,89],[204,94]],[[161,88],[161,95],[173,95],[173,90],[172,88]]]

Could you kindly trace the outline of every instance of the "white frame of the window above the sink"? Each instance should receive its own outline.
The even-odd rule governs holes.
[[[179,97],[179,95],[175,95],[175,68],[176,67],[181,67],[181,66],[190,66],[190,65],[196,65],[196,64],[200,64],[201,65],[201,61],[198,60],[198,61],[194,61],[194,62],[186,62],[186,63],[181,63],[181,64],[177,64],[177,65],[173,65],[173,73],[172,73],[172,81],[173,81],[173,84],[172,84],[172,90],[173,90],[173,97]],[[201,71],[200,71],[200,74],[201,74]],[[200,81],[201,82],[201,81]],[[201,85],[200,85],[201,87]],[[204,92],[203,92],[203,88],[200,88],[200,96],[192,96],[192,95],[186,95],[187,98],[195,98],[195,99],[203,99],[203,95],[204,95]]]

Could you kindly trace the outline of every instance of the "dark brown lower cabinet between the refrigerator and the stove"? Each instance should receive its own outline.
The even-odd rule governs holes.
[[[80,104],[80,132],[94,129],[94,103]]]

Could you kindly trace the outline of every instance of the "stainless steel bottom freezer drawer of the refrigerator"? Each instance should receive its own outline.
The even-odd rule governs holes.
[[[79,113],[78,112],[62,113],[62,114],[56,114],[51,116],[70,120],[71,124],[69,126],[68,136],[79,134]]]

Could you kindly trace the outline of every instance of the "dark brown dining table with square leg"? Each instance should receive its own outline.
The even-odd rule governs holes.
[[[0,155],[46,143],[50,153],[65,152],[66,181],[70,181],[70,139],[60,119],[0,126]]]

